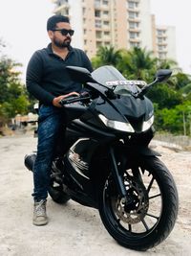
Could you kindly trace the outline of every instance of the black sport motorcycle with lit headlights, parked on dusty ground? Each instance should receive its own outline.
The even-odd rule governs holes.
[[[126,80],[112,66],[92,74],[80,67],[67,69],[89,92],[60,102],[68,124],[64,153],[53,161],[49,194],[57,203],[73,199],[98,209],[118,244],[152,248],[173,229],[179,200],[172,175],[149,148],[154,108],[144,95],[171,71],[159,70],[147,84]],[[28,169],[34,160],[35,153],[25,157]]]

